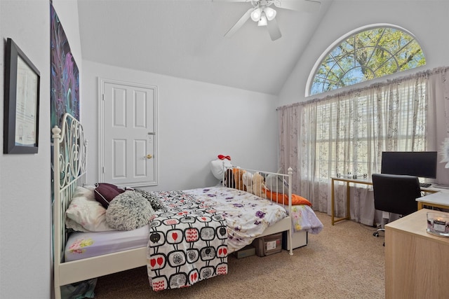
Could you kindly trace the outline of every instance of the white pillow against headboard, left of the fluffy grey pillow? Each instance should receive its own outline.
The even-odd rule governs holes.
[[[106,209],[95,200],[93,190],[76,187],[69,208],[65,211],[67,228],[81,232],[114,230],[106,222]]]

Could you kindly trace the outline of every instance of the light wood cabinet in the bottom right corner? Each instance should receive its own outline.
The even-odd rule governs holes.
[[[449,238],[426,232],[427,211],[385,225],[386,299],[448,298]]]

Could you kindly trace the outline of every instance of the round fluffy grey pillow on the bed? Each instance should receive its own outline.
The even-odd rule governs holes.
[[[140,193],[126,190],[109,203],[106,210],[107,224],[116,230],[135,230],[149,223],[154,210]]]

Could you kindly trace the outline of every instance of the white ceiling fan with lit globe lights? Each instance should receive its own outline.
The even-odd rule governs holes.
[[[220,0],[213,0],[220,1]],[[319,11],[321,3],[319,1],[313,0],[221,0],[227,2],[250,2],[253,6],[248,9],[246,13],[234,24],[234,26],[226,32],[225,36],[232,36],[247,20],[251,18],[254,22],[257,22],[258,26],[266,26],[268,29],[269,36],[272,41],[279,39],[282,34],[279,30],[279,26],[276,22],[276,10],[270,6],[275,6],[277,8],[285,8],[293,11],[306,11],[306,12],[316,12]]]

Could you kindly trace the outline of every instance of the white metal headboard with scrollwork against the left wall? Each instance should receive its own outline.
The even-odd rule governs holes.
[[[64,257],[67,241],[65,210],[77,186],[86,183],[87,141],[83,126],[69,113],[62,116],[62,127],[53,132],[53,254],[55,277]]]

